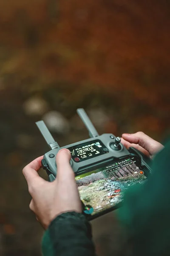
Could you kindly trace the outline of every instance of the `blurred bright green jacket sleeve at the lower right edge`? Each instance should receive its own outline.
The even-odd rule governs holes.
[[[152,170],[146,183],[125,195],[118,211],[128,255],[170,255],[170,142],[153,160]]]

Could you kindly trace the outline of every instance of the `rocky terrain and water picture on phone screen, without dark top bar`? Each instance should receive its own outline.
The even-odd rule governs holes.
[[[134,165],[111,172],[98,172],[77,180],[80,198],[85,205],[94,208],[94,214],[117,206],[123,201],[124,192],[130,186],[143,183],[146,177],[132,172]],[[123,175],[123,177],[122,177]]]

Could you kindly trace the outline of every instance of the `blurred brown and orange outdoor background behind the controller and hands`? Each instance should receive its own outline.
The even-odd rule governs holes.
[[[167,0],[0,0],[0,255],[41,255],[22,175],[48,151],[36,121],[61,146],[88,138],[77,108],[100,134],[166,141],[169,28]],[[98,255],[119,255],[115,213],[92,224]]]

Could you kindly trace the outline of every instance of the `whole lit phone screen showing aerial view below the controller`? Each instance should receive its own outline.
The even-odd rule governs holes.
[[[137,166],[136,157],[129,157],[108,166],[76,177],[84,212],[95,215],[123,201],[124,192],[135,184],[143,183],[144,172]]]

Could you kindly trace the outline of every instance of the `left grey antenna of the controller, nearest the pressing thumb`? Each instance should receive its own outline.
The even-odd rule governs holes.
[[[46,140],[46,143],[48,144],[50,149],[59,148],[58,143],[54,140],[52,137],[50,131],[48,130],[47,126],[43,121],[36,122],[36,125],[38,129],[40,130],[42,136]]]

